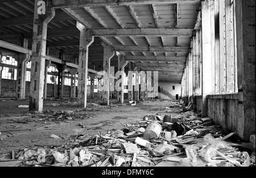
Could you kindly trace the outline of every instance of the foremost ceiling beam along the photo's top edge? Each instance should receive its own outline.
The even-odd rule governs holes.
[[[143,5],[143,4],[171,4],[171,3],[199,3],[200,0],[55,0],[52,5],[55,8],[81,7],[81,6],[113,6],[113,5]]]

